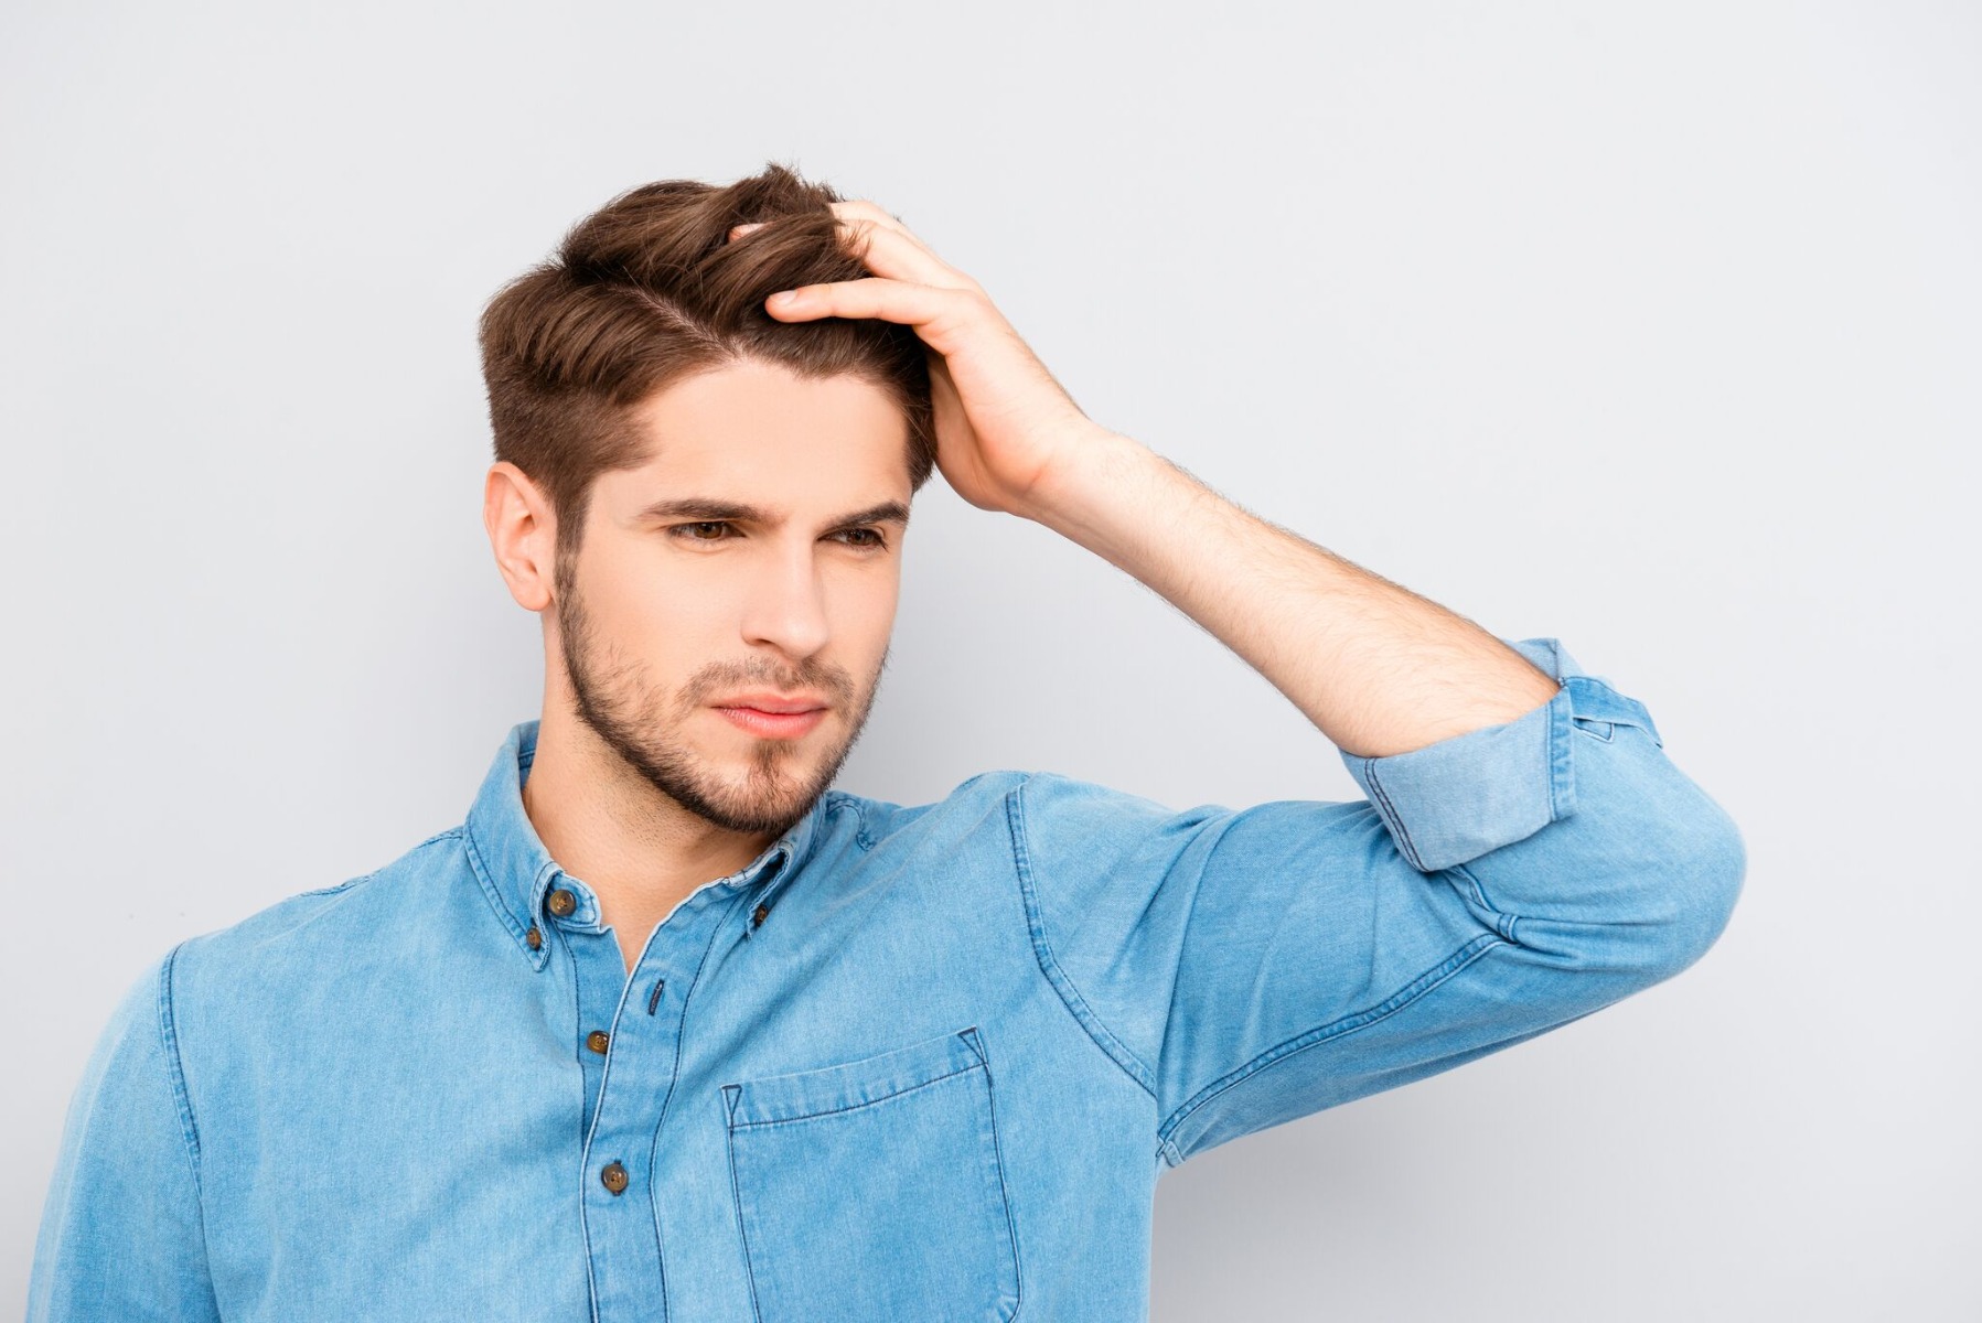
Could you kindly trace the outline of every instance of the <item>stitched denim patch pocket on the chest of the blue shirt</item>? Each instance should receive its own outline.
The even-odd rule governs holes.
[[[1019,1244],[977,1028],[723,1085],[759,1323],[1003,1321]]]

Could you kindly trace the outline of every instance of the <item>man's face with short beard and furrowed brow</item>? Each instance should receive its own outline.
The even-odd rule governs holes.
[[[573,705],[690,812],[783,832],[832,784],[888,662],[904,525],[874,509],[906,519],[906,422],[864,380],[743,362],[676,382],[636,426],[646,463],[595,481],[557,566]],[[721,711],[751,693],[825,711],[767,733]]]

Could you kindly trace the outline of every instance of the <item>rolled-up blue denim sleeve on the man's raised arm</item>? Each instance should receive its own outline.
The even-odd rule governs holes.
[[[1035,772],[1013,794],[1041,967],[1154,1103],[1156,1153],[1393,1089],[1693,965],[1746,873],[1645,705],[1558,640],[1516,721],[1342,755],[1368,800],[1171,810]]]

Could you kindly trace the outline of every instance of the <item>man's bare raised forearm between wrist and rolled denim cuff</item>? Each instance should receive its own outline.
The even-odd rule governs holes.
[[[1096,428],[1025,515],[1134,574],[1265,675],[1346,753],[1379,759],[1556,695],[1494,634],[1251,515]]]

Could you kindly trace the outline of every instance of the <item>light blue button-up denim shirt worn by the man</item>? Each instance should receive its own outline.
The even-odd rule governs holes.
[[[1144,1319],[1157,1178],[1693,965],[1746,871],[1651,713],[1542,707],[1356,802],[993,770],[828,790],[630,976],[523,812],[174,945],[67,1109],[30,1319]]]

